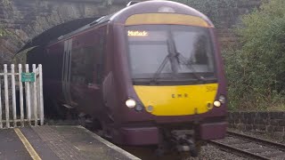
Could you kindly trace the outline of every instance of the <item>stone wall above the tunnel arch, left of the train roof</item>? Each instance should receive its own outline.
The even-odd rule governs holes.
[[[126,6],[126,0],[0,0],[0,25],[9,35],[0,37],[0,64],[45,30],[62,23],[99,17]]]

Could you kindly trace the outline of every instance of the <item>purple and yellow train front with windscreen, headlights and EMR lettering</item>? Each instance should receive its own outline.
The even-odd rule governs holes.
[[[175,143],[185,151],[200,140],[224,138],[223,61],[205,15],[184,4],[146,1],[105,21],[111,63],[102,83],[108,108],[102,125],[112,141]]]

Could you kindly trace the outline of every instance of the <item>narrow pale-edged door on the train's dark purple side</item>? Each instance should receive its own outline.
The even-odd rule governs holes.
[[[71,66],[71,48],[72,48],[72,39],[69,39],[64,42],[64,53],[62,61],[62,93],[63,98],[66,104],[66,107],[71,105],[70,97],[70,66]],[[71,106],[70,106],[71,107]]]

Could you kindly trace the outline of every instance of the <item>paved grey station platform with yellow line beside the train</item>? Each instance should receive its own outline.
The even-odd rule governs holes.
[[[139,159],[80,125],[0,130],[2,160]]]

